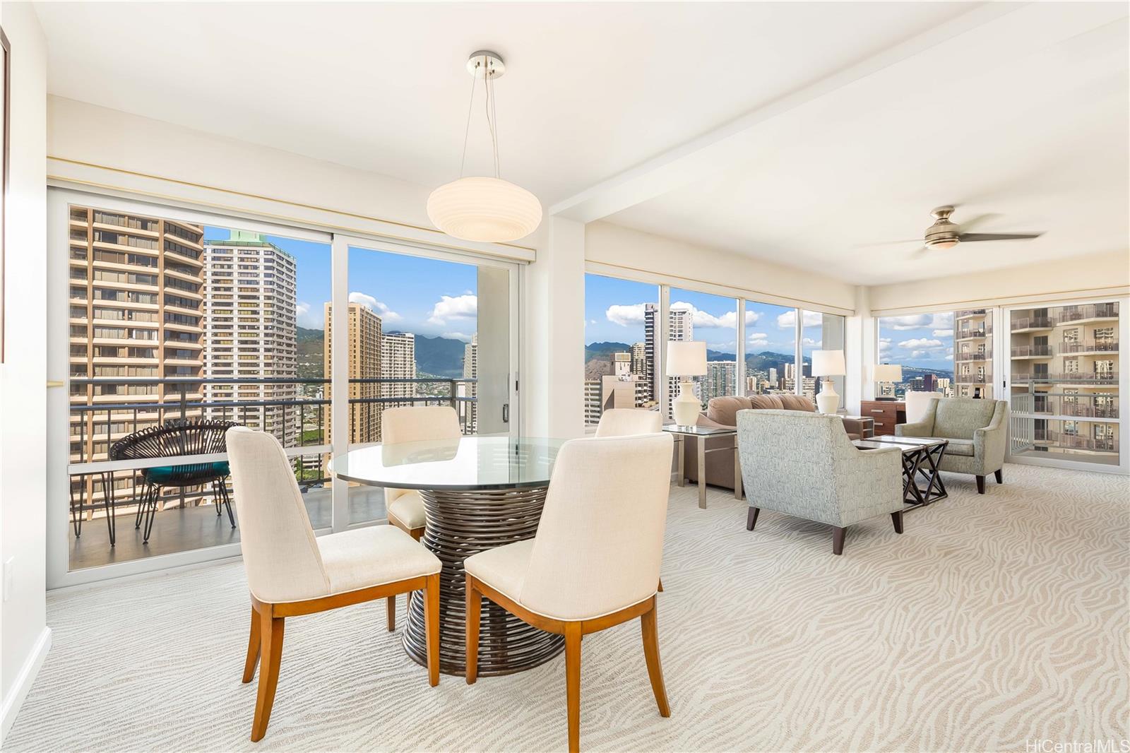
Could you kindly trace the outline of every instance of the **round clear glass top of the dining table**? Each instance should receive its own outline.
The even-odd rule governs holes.
[[[566,440],[462,436],[375,444],[330,461],[338,478],[392,488],[497,490],[545,486]]]

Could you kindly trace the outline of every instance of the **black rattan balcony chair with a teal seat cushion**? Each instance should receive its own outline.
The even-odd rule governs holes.
[[[114,442],[113,447],[110,448],[110,459],[157,460],[185,455],[227,452],[224,434],[232,426],[238,425],[231,421],[201,421],[176,424],[171,422],[165,426],[150,426]],[[227,460],[158,466],[138,470],[144,490],[138,503],[133,528],[140,528],[142,518],[145,519],[141,543],[149,543],[149,534],[153,533],[153,521],[156,518],[160,492],[167,487],[184,488],[185,486],[211,484],[212,496],[216,501],[216,516],[223,514],[221,508],[227,508],[227,519],[232,523],[232,528],[235,528],[232,500],[228,496],[225,482],[229,473]]]

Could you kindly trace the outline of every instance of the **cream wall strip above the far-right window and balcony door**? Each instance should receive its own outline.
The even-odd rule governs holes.
[[[1025,301],[1052,302],[1127,295],[1130,251],[1071,257],[988,271],[964,270],[949,277],[868,288],[871,311],[967,309]]]

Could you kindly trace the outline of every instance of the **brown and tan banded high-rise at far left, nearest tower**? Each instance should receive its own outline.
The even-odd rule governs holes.
[[[201,225],[70,207],[68,315],[72,378],[202,375],[202,237]],[[199,403],[202,393],[198,383],[175,381],[72,384],[70,401],[175,404],[181,399],[182,386],[185,399]],[[166,410],[164,418],[180,416],[180,412]],[[184,417],[199,418],[200,408],[188,408]],[[155,426],[159,419],[156,409],[111,412],[108,421],[105,413],[73,412],[71,461],[105,460],[111,443]]]

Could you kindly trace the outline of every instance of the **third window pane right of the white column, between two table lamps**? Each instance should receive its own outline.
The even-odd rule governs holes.
[[[746,395],[796,391],[797,310],[746,301]]]

